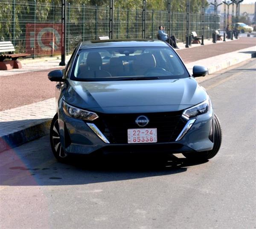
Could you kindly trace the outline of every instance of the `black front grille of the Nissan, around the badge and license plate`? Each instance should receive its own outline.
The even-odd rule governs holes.
[[[127,130],[137,128],[157,128],[158,143],[172,142],[175,141],[186,124],[186,121],[181,118],[182,112],[99,114],[95,124],[110,143],[126,144],[128,142]],[[139,127],[135,123],[140,115],[145,115],[149,119],[149,123],[145,127]]]

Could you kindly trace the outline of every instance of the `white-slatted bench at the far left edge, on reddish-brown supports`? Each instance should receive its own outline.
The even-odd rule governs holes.
[[[26,53],[14,54],[14,52],[15,48],[11,41],[0,41],[0,70],[21,69],[21,63],[17,59],[30,56]]]

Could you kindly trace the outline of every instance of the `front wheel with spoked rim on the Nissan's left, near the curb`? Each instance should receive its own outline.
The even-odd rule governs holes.
[[[50,143],[52,147],[52,153],[56,159],[61,163],[67,163],[69,156],[61,146],[59,125],[58,125],[58,113],[54,115],[50,127]]]

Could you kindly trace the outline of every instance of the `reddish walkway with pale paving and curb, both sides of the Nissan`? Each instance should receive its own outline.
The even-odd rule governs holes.
[[[243,38],[225,44],[222,42],[207,46],[199,45],[193,49],[181,49],[178,50],[178,53],[185,60],[189,70],[192,70],[194,65],[201,64],[209,69],[209,73],[213,73],[249,59],[251,53],[256,52],[255,45],[255,38]],[[239,47],[247,48],[239,49]],[[235,51],[233,51],[234,49]],[[213,50],[215,51],[213,52]],[[210,53],[215,55],[209,57]],[[191,57],[193,62],[189,62]],[[56,60],[56,63],[57,65],[52,65],[52,67],[60,68],[59,60]],[[41,67],[41,65],[43,66]],[[29,72],[0,77],[0,106],[2,110],[0,112],[0,152],[34,140],[49,131],[50,120],[55,115],[55,99],[52,98],[54,97],[55,83],[47,79],[49,65],[47,67],[44,65],[44,62],[38,64],[40,71],[37,72],[31,68]],[[198,78],[199,82],[202,80],[207,80],[207,77]]]

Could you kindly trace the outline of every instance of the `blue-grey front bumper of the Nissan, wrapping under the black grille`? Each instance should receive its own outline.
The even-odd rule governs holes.
[[[61,145],[68,154],[88,155],[93,152],[103,153],[182,153],[211,150],[212,141],[209,133],[213,122],[212,108],[203,115],[198,115],[191,128],[180,139],[163,143],[117,144],[106,143],[81,119],[69,117],[62,108],[58,109]]]

